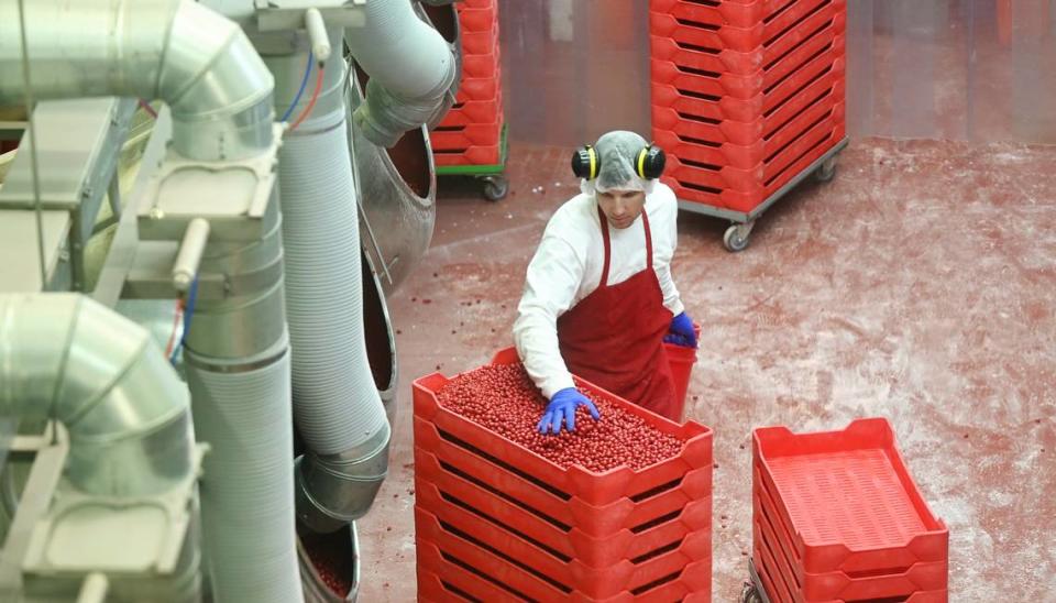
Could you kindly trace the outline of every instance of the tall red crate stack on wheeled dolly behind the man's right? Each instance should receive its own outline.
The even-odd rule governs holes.
[[[846,0],[651,0],[652,129],[678,197],[748,212],[845,135]]]

